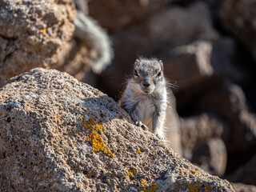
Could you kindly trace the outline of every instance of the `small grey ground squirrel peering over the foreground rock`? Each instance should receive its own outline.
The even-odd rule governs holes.
[[[119,105],[130,114],[135,125],[164,138],[167,86],[161,60],[136,59],[134,74],[127,81]]]

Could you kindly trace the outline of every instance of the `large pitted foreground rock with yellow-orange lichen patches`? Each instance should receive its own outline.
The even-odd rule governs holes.
[[[2,191],[234,191],[106,94],[36,68],[0,90]]]

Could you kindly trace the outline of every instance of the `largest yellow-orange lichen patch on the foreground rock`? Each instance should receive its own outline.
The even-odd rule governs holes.
[[[114,154],[112,154],[111,150],[107,149],[106,143],[103,141],[102,136],[99,135],[103,130],[105,130],[105,127],[102,126],[102,123],[95,123],[94,118],[90,118],[89,122],[84,122],[84,119],[81,119],[83,126],[85,126],[87,130],[91,131],[86,139],[93,146],[93,151],[103,151],[104,154],[114,158]]]

